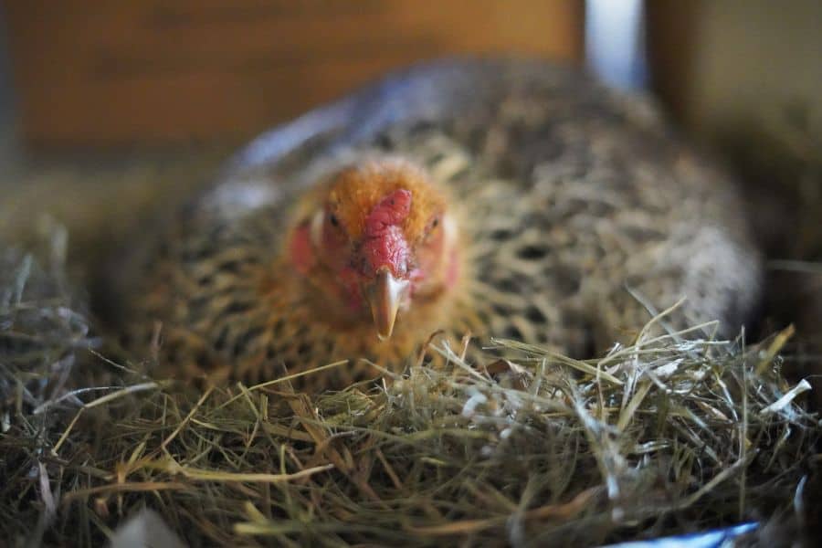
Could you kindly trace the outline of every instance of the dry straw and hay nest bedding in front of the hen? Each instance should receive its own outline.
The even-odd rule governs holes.
[[[587,361],[499,341],[519,357],[467,364],[435,339],[446,367],[338,393],[179,385],[104,357],[64,248],[0,253],[13,545],[100,545],[145,507],[192,545],[594,545],[806,515],[820,425],[780,372],[790,331],[652,334],[662,312]]]

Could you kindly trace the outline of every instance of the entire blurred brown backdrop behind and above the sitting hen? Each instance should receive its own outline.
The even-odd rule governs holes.
[[[96,261],[271,125],[390,68],[494,52],[655,95],[741,175],[772,257],[822,258],[818,0],[2,0],[0,233],[47,212]],[[795,299],[822,312],[819,293]]]

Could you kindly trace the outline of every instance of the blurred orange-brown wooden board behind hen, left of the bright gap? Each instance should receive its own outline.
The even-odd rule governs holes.
[[[27,142],[236,140],[450,53],[579,60],[581,0],[3,0]]]

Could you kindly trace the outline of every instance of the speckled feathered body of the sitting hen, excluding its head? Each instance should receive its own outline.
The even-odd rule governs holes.
[[[386,341],[288,252],[307,195],[383,158],[426,174],[457,235],[453,284],[401,310]],[[525,60],[418,66],[268,132],[157,241],[125,310],[135,332],[163,322],[171,371],[258,380],[350,360],[331,385],[367,374],[360,358],[401,369],[437,330],[472,349],[602,351],[681,297],[672,321],[733,334],[761,276],[732,182],[647,101]]]

